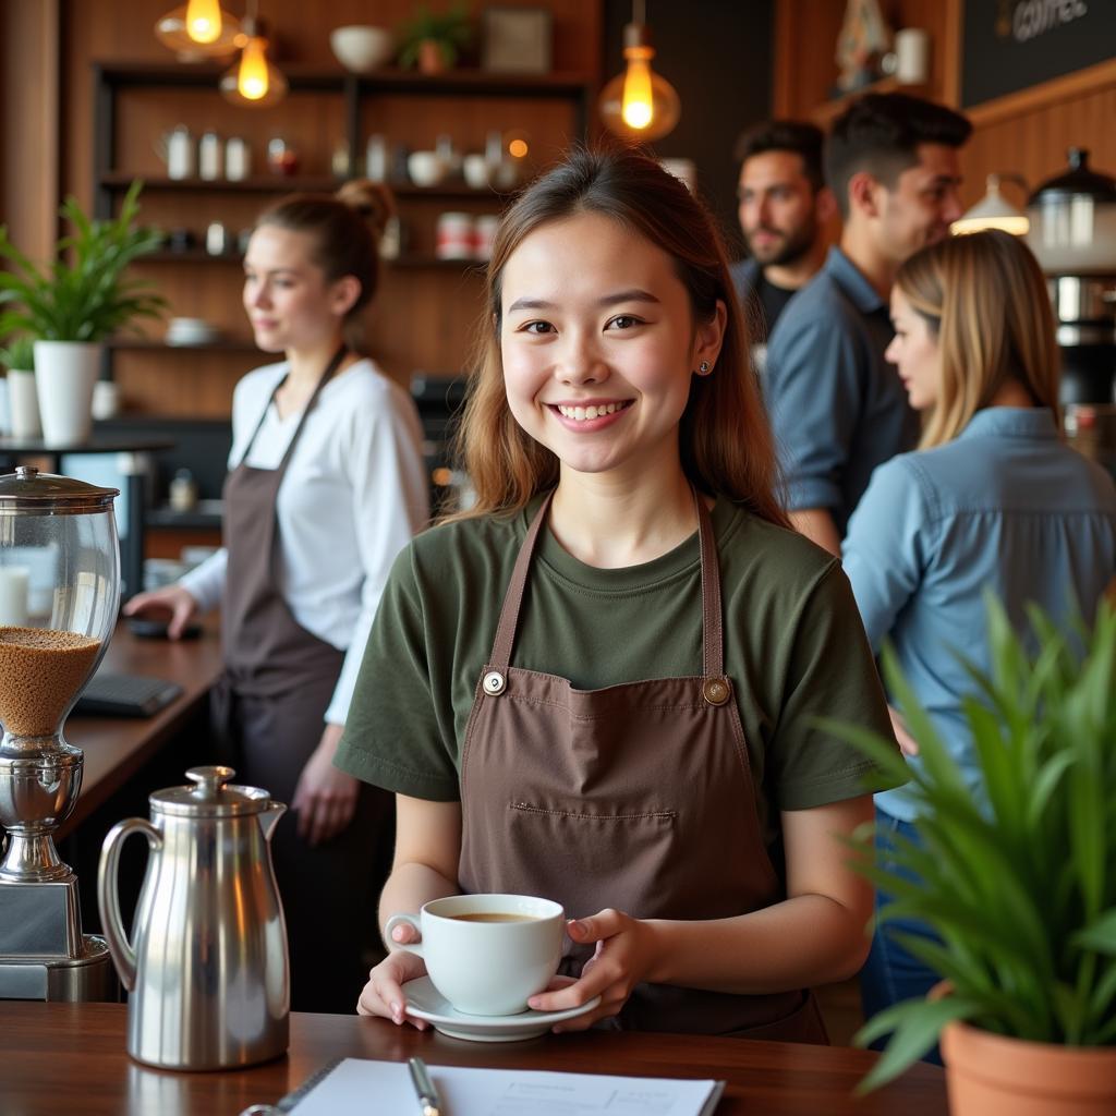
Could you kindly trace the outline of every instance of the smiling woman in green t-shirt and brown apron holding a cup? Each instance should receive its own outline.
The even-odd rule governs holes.
[[[396,793],[382,920],[547,896],[571,944],[530,1007],[560,1028],[824,1041],[804,989],[864,956],[840,836],[873,769],[815,714],[887,716],[839,562],[777,502],[713,222],[652,160],[576,153],[488,285],[478,506],[396,562],[337,758]],[[402,1023],[424,973],[392,952],[359,1010]]]

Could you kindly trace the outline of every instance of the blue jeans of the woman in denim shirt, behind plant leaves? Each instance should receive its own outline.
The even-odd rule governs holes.
[[[908,821],[899,821],[878,807],[876,809],[876,866],[884,868],[904,879],[917,879],[910,872],[899,870],[892,856],[892,837],[901,834],[910,840],[917,841],[915,828]],[[885,892],[876,892],[876,913],[891,903],[891,896]],[[905,950],[892,937],[893,931],[908,934],[920,934],[937,941],[937,935],[924,923],[915,918],[896,918],[881,925],[878,920],[872,935],[872,950],[868,960],[860,970],[860,1001],[865,1019],[870,1019],[884,1008],[925,995],[941,977],[929,965]],[[877,1039],[872,1043],[874,1050],[882,1050],[887,1038]],[[942,1056],[935,1046],[923,1057],[923,1061],[942,1065]]]

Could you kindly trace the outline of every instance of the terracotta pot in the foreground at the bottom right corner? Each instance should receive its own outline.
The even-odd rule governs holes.
[[[1116,1048],[1026,1042],[950,1023],[942,1059],[952,1116],[1113,1116]]]

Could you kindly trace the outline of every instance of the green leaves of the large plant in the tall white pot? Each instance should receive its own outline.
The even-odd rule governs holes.
[[[58,241],[56,259],[40,270],[0,227],[0,335],[20,330],[39,340],[97,341],[137,317],[158,317],[166,302],[153,283],[126,279],[128,264],[163,242],[157,229],[135,220],[142,183],[128,187],[117,217],[90,220],[74,198],[59,211],[74,232]],[[67,259],[69,257],[69,259]]]

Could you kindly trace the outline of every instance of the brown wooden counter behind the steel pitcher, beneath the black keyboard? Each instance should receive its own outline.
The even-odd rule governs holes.
[[[154,716],[70,716],[62,734],[85,752],[81,793],[60,835],[71,833],[114,790],[183,727],[221,673],[221,639],[214,619],[196,639],[137,639],[122,620],[105,652],[103,667],[117,674],[146,674],[177,682],[182,694]],[[153,790],[157,788],[152,788]]]

